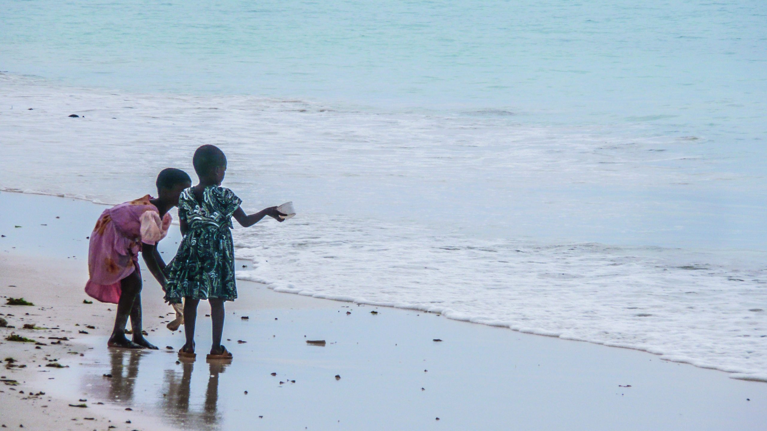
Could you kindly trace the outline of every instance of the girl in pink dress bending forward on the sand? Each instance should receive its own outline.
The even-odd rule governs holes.
[[[104,210],[91,232],[88,271],[91,278],[85,292],[101,302],[117,304],[109,347],[131,349],[157,347],[146,341],[141,327],[141,273],[138,255],[165,290],[165,262],[156,244],[165,238],[170,226],[168,212],[179,203],[183,189],[192,186],[183,170],[167,168],[157,176],[157,195],[149,195]],[[133,341],[125,337],[130,316]]]

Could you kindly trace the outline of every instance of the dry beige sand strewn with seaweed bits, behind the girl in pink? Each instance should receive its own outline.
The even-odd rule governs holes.
[[[25,298],[34,306],[0,305],[2,318],[11,327],[0,327],[0,359],[2,379],[0,424],[9,428],[35,430],[61,429],[170,429],[157,426],[140,410],[110,411],[99,406],[100,400],[72,396],[51,397],[48,389],[62,373],[91,354],[92,347],[78,343],[86,334],[108,334],[114,323],[114,305],[84,304],[83,286],[87,272],[82,262],[71,259],[0,255],[0,292],[6,298]],[[162,303],[149,302],[146,313],[166,311]],[[24,329],[32,324],[41,329]],[[156,325],[153,325],[156,327]],[[44,328],[44,329],[42,329]],[[154,327],[147,327],[151,331]],[[17,334],[35,343],[7,341]],[[66,338],[66,340],[61,340]],[[13,362],[7,358],[13,358]],[[61,367],[51,367],[60,364]],[[17,383],[18,382],[18,383]],[[83,401],[85,400],[85,401]],[[69,404],[85,404],[87,408]],[[86,419],[90,418],[90,419]],[[130,420],[131,423],[126,423]]]

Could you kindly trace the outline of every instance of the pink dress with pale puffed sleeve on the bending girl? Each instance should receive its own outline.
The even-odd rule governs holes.
[[[165,238],[171,216],[150,203],[149,195],[105,209],[91,232],[85,293],[101,302],[120,301],[120,280],[140,271],[141,244],[154,245]]]

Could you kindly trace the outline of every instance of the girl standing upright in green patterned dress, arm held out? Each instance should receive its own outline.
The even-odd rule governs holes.
[[[213,344],[209,359],[229,359],[232,354],[221,344],[224,329],[224,301],[237,298],[235,255],[232,245],[232,217],[245,227],[265,216],[281,222],[276,206],[246,215],[242,200],[221,186],[226,172],[226,156],[218,147],[200,146],[194,153],[194,170],[199,184],[185,189],[179,198],[181,245],[170,262],[165,300],[184,304],[186,344],[179,356],[195,357],[194,330],[199,300],[210,303]]]

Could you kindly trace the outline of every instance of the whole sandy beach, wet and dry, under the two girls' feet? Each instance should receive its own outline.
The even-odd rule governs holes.
[[[33,351],[25,353],[38,355],[26,359],[29,367],[4,369],[5,375],[28,382],[16,391],[0,386],[0,422],[9,427],[18,427],[9,422],[18,415],[15,407],[6,406],[33,404],[21,400],[21,387],[44,391],[45,405],[88,400],[88,413],[98,413],[98,426],[86,423],[91,421],[82,413],[72,421],[71,410],[80,410],[74,407],[67,406],[63,416],[50,416],[58,417],[59,425],[64,419],[67,426],[84,424],[70,429],[106,429],[110,419],[118,429],[211,430],[698,430],[763,429],[767,423],[765,383],[733,380],[727,373],[635,350],[449,321],[439,314],[281,294],[245,281],[238,281],[238,301],[227,304],[224,337],[235,355],[231,364],[206,363],[206,306],[199,312],[197,360],[176,364],[173,350],[183,335],[165,329],[170,308],[150,279],[143,293],[145,328],[161,350],[107,349],[114,318],[110,306],[82,304],[85,236],[104,207],[7,192],[0,193],[0,206],[5,209],[0,233],[6,235],[0,242],[0,295],[31,299],[38,306],[36,321],[46,327],[58,324],[58,331],[67,331],[61,334],[76,337],[65,347],[40,349],[53,351],[51,357],[68,368],[38,373],[33,368],[44,356]],[[172,255],[177,240],[176,231],[160,243],[160,250]],[[247,264],[239,261],[238,268]],[[144,271],[145,279],[148,275]],[[24,313],[19,308],[0,307],[0,313],[15,314],[9,324],[20,327]],[[76,323],[94,329],[79,334]],[[29,337],[39,330],[0,328],[3,357],[8,349],[21,349],[5,341],[12,331]],[[311,346],[307,340],[326,344]],[[33,347],[25,344],[23,349]],[[41,409],[42,401],[34,403],[25,411]],[[131,424],[124,423],[127,416],[133,417]],[[34,429],[65,429],[41,420]]]

